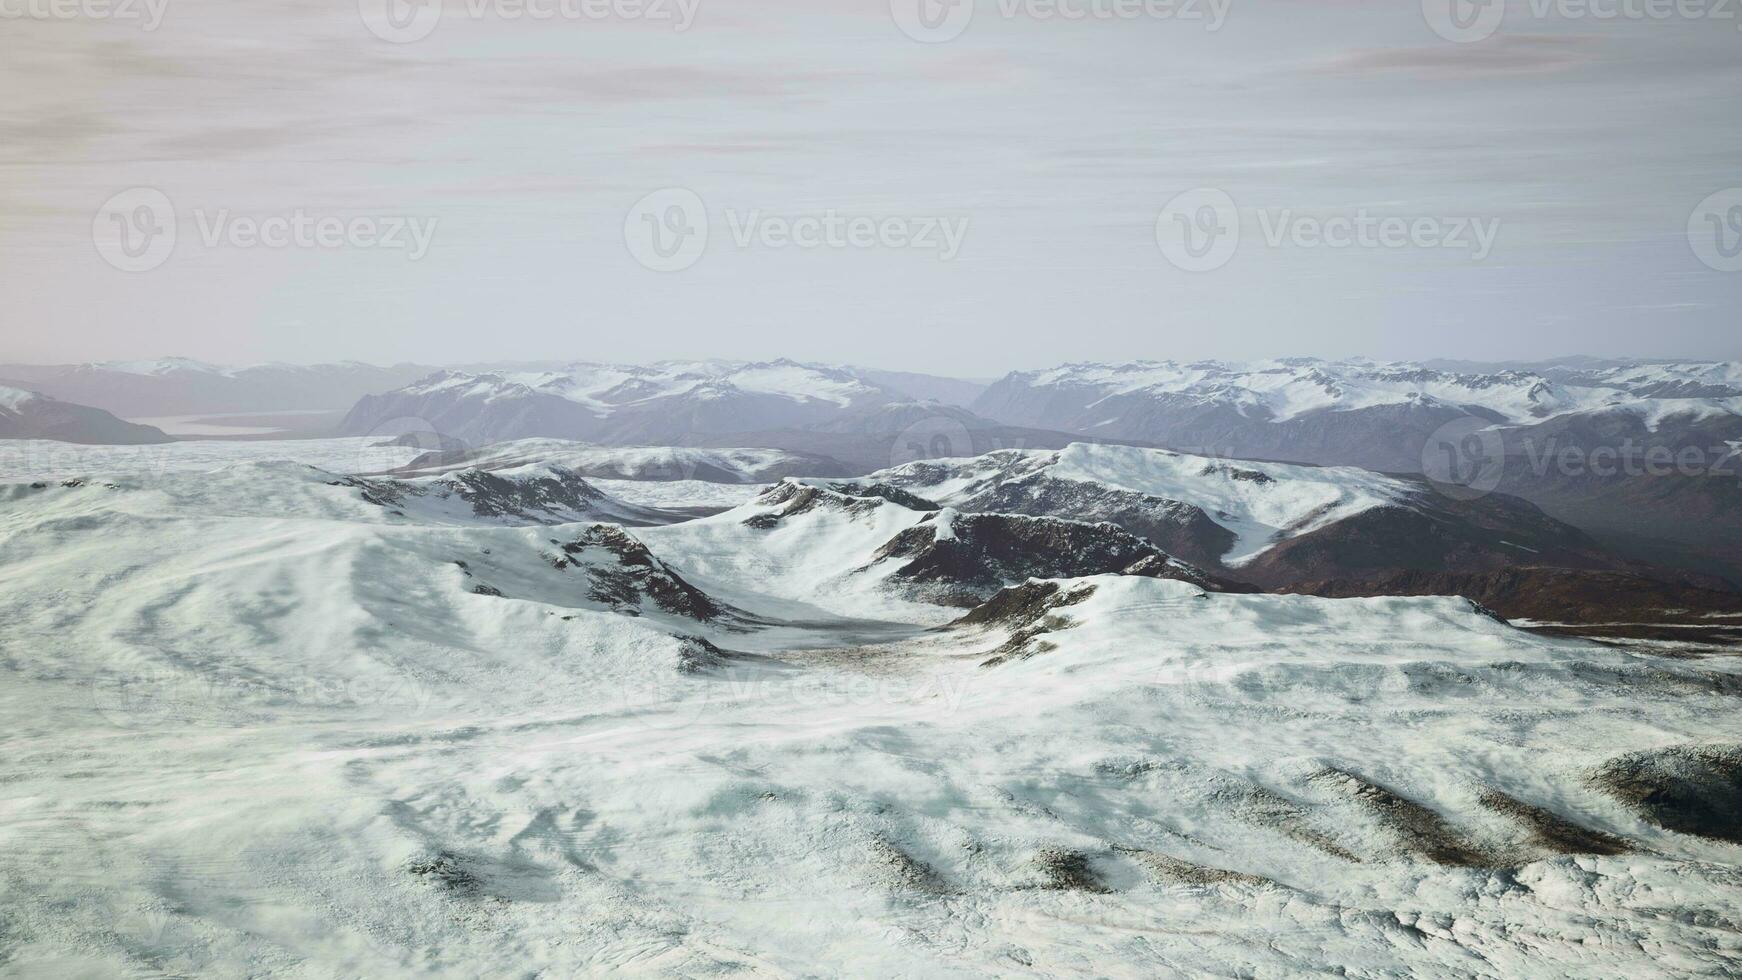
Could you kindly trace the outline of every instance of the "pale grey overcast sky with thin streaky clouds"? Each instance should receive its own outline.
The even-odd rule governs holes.
[[[660,0],[669,21],[631,0],[449,0],[395,44],[371,26],[404,40],[430,21],[411,7],[401,30],[369,9],[387,0],[108,2],[136,7],[0,21],[0,360],[787,355],[993,376],[1742,357],[1742,272],[1690,242],[1690,223],[1742,235],[1742,197],[1705,205],[1716,225],[1698,212],[1742,185],[1730,9],[1521,0],[1455,44],[1415,0],[1221,0],[1218,30],[1209,0],[1078,21],[982,0],[965,23],[909,0]],[[517,3],[557,17],[510,19]],[[129,188],[172,211],[174,249],[146,272],[103,242],[162,230],[138,211],[155,197],[106,205]],[[662,235],[695,232],[692,202],[707,226],[699,254],[652,259],[693,259],[676,272],[638,259],[638,204],[662,188],[695,195],[652,198]],[[1195,188],[1239,212],[1239,247],[1205,272],[1158,245]],[[847,247],[786,242],[831,211],[841,240],[876,221]],[[350,223],[345,242],[247,242],[298,214]],[[1313,221],[1359,216],[1451,242],[1313,244]],[[416,254],[409,232],[354,240],[359,218],[434,232]],[[946,228],[965,228],[955,254]]]

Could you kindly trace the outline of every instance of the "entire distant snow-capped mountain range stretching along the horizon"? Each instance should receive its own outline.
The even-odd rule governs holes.
[[[425,432],[474,451],[528,437],[765,447],[815,458],[814,473],[852,475],[1089,439],[1361,467],[1427,475],[1451,496],[1517,496],[1631,559],[1742,581],[1742,366],[1733,362],[1068,364],[991,385],[786,359],[0,367],[0,378],[16,374],[51,397],[136,413],[350,404],[345,435]]]

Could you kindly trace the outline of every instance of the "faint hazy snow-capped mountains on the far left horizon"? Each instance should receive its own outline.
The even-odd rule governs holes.
[[[0,381],[124,418],[199,413],[348,409],[371,392],[397,388],[434,371],[415,364],[256,364],[225,367],[185,357],[99,364],[0,364]]]

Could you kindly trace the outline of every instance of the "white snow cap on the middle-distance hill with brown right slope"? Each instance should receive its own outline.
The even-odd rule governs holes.
[[[937,503],[962,505],[1023,480],[1075,480],[1190,503],[1235,534],[1228,566],[1279,540],[1406,501],[1416,487],[1355,467],[1298,467],[1219,460],[1134,446],[1073,442],[1059,451],[1007,449],[970,460],[908,463],[864,477]]]

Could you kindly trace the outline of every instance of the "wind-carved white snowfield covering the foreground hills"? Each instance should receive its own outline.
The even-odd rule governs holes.
[[[944,606],[876,555],[977,515],[836,482],[638,529],[293,463],[0,486],[0,971],[1742,970],[1733,658],[1010,581],[1050,550]]]

